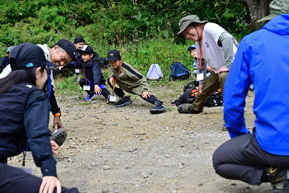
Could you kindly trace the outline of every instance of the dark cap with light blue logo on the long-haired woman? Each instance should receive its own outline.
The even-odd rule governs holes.
[[[46,60],[43,50],[32,43],[23,43],[13,48],[10,52],[10,65],[12,70],[21,70],[42,65],[57,66]]]

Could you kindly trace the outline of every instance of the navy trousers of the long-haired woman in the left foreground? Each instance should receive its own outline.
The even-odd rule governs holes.
[[[0,162],[0,192],[38,193],[41,183],[42,179]],[[76,188],[62,187],[61,190],[62,193],[79,193]]]

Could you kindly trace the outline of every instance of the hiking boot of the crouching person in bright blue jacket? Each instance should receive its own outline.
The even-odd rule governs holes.
[[[270,167],[267,176],[273,186],[274,193],[289,193],[289,169]]]

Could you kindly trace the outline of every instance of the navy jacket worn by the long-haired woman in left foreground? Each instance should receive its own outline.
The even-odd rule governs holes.
[[[30,83],[20,83],[0,95],[0,104],[0,159],[22,153],[28,144],[43,176],[57,177],[47,129],[47,95]]]

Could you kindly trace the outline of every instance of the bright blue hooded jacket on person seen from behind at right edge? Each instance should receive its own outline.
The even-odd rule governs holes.
[[[230,137],[249,133],[244,107],[253,83],[255,136],[264,151],[275,155],[289,155],[288,50],[289,14],[281,14],[242,39],[224,86]]]

